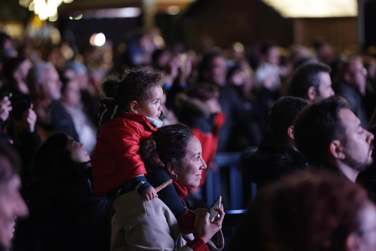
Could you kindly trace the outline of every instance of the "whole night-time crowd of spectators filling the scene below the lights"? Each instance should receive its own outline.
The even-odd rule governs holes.
[[[229,250],[376,248],[376,55],[159,35],[67,55],[0,32],[3,249],[221,250],[217,152],[257,184]]]

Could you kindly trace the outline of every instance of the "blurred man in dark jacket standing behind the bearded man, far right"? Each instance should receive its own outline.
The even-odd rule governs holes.
[[[341,70],[341,80],[335,85],[335,93],[344,97],[351,106],[351,110],[367,127],[368,116],[363,97],[365,95],[366,75],[362,59],[352,57],[347,59]]]

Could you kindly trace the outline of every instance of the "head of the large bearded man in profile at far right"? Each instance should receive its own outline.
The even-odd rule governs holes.
[[[372,164],[373,134],[342,97],[332,96],[306,107],[295,123],[297,149],[318,167],[355,182]]]

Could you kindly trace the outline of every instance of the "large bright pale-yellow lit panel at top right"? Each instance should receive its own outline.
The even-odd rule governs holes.
[[[356,17],[357,0],[262,0],[283,17]]]

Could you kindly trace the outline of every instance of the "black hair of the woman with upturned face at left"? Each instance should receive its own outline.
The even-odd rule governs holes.
[[[68,173],[75,163],[67,145],[68,136],[65,133],[56,133],[47,138],[35,154],[34,172],[36,176]]]

